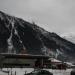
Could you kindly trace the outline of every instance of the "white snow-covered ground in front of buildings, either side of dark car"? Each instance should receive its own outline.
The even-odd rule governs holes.
[[[16,75],[24,75],[25,72],[26,73],[30,73],[32,71],[34,71],[33,68],[3,68],[2,69],[3,71],[10,71],[9,72],[9,75],[11,75],[11,72],[12,72],[12,75],[15,75],[15,71],[16,71]],[[53,75],[70,75],[70,72],[72,69],[67,69],[67,70],[52,70],[52,69],[45,69],[49,72],[52,72]],[[4,73],[2,71],[0,71],[0,75],[8,75],[8,73]]]

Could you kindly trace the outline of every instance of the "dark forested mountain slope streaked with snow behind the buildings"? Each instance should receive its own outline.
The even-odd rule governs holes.
[[[21,18],[0,11],[0,53],[29,53],[75,61],[75,44]]]

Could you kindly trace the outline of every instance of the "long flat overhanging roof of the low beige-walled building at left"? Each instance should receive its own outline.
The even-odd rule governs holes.
[[[9,54],[9,53],[0,53],[4,58],[18,58],[18,59],[48,59],[49,56],[45,55],[32,55],[32,54]]]

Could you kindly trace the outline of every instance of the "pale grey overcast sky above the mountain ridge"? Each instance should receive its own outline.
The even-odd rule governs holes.
[[[0,0],[0,10],[51,32],[75,33],[75,0]]]

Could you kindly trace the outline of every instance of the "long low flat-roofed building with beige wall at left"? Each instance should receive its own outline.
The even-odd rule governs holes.
[[[35,68],[43,67],[44,61],[49,59],[49,56],[31,55],[31,54],[0,54],[3,67],[26,67]]]

